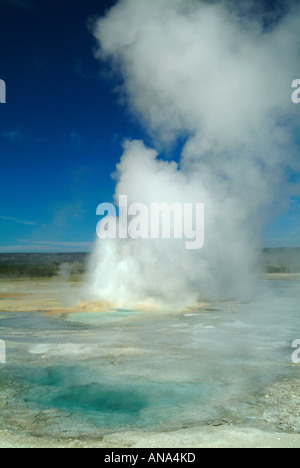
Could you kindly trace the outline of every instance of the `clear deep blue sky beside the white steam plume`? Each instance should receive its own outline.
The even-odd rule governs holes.
[[[89,250],[122,140],[148,142],[93,57],[87,19],[114,3],[0,0],[0,252]],[[299,213],[295,198],[265,245],[300,244]]]

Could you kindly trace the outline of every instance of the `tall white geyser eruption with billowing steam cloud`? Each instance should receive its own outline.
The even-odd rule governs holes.
[[[121,0],[94,22],[96,56],[122,76],[127,104],[154,144],[185,142],[176,163],[127,141],[116,200],[204,203],[205,246],[98,240],[88,278],[93,297],[121,307],[182,307],[252,291],[266,214],[284,205],[291,188],[291,83],[300,59],[299,8],[267,22],[252,7]]]

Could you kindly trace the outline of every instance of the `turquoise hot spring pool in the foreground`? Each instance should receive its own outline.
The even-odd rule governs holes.
[[[29,408],[59,409],[104,428],[167,423],[191,405],[203,405],[204,410],[217,393],[215,385],[203,382],[107,381],[83,366],[27,369],[22,382]]]

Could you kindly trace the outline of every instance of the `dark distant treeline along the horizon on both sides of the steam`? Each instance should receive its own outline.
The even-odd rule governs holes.
[[[0,254],[0,278],[51,278],[85,273],[87,253]],[[300,248],[264,249],[267,273],[300,273]]]

